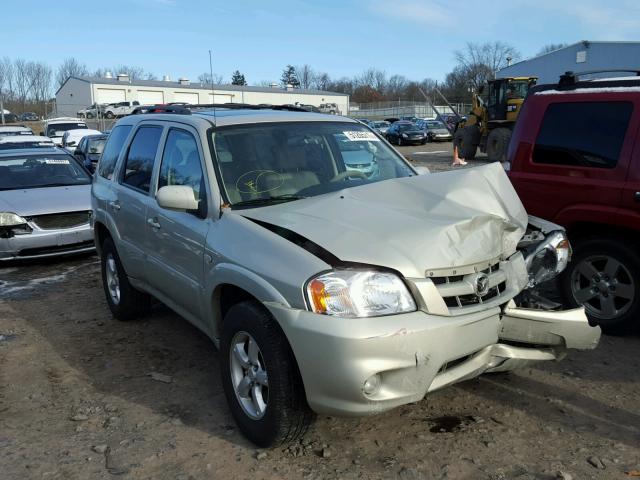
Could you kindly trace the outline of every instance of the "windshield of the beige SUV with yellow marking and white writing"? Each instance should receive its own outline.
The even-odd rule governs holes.
[[[296,200],[415,175],[361,124],[296,122],[214,131],[221,177],[236,206]]]

